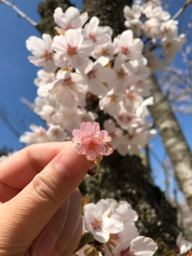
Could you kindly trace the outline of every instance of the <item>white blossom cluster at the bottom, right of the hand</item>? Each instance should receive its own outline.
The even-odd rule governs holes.
[[[87,240],[76,254],[152,256],[157,244],[151,238],[139,236],[134,223],[137,219],[137,213],[126,201],[118,203],[111,198],[101,199],[96,204],[85,204],[83,237]]]

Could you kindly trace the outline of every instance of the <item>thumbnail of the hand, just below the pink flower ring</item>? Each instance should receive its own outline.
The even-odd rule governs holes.
[[[77,144],[72,144],[57,161],[57,167],[65,176],[73,179],[88,162],[85,155],[78,155]]]

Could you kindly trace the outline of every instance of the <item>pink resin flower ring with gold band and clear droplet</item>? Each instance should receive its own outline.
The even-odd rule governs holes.
[[[100,130],[99,123],[92,124],[91,122],[83,122],[79,129],[72,131],[73,143],[79,144],[77,152],[79,155],[86,155],[88,160],[94,161],[96,171],[88,171],[88,174],[95,176],[100,171],[100,163],[97,155],[109,156],[113,153],[113,147],[108,141],[111,141],[111,137],[108,137],[106,130]]]

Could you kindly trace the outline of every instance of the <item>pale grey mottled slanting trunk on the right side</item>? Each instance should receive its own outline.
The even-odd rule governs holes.
[[[151,115],[171,159],[178,185],[183,191],[192,211],[191,151],[182,134],[171,106],[161,92],[155,77],[151,75],[147,82],[151,86],[151,95],[154,98],[154,104],[150,106]]]

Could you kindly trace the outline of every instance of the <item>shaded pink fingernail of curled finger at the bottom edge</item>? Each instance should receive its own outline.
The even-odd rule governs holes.
[[[35,249],[33,256],[49,256],[55,247],[57,239],[57,235],[53,232],[44,235]]]

